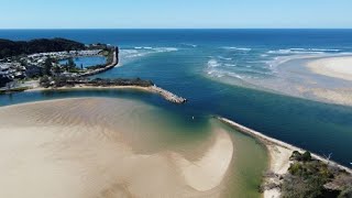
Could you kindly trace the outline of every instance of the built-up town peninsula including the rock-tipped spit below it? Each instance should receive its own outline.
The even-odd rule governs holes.
[[[151,80],[140,78],[88,79],[87,77],[109,70],[119,64],[119,47],[101,43],[84,45],[63,38],[59,38],[59,41],[65,41],[64,44],[67,42],[74,43],[78,45],[76,48],[80,50],[73,50],[75,47],[70,45],[70,51],[20,54],[0,59],[0,94],[82,87],[131,88],[160,95],[173,103],[185,103],[187,101],[183,97],[157,87]],[[106,57],[106,63],[84,67],[82,65],[76,65],[74,62],[77,57],[97,56]],[[65,64],[62,64],[63,61]]]

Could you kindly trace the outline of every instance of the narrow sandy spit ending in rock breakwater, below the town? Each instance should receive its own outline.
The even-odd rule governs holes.
[[[55,91],[55,90],[70,90],[70,89],[77,89],[77,90],[84,90],[84,89],[132,89],[132,90],[141,90],[146,91],[151,94],[156,94],[162,96],[165,100],[173,102],[173,103],[185,103],[187,102],[187,99],[183,97],[178,97],[177,95],[165,90],[157,86],[150,86],[150,87],[142,87],[142,86],[109,86],[109,87],[97,87],[97,86],[88,86],[88,85],[80,85],[80,86],[74,86],[74,87],[59,87],[59,88],[33,88],[28,89],[25,91]]]

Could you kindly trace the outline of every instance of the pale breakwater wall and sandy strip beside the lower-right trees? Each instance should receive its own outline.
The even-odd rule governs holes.
[[[284,175],[288,172],[288,167],[290,165],[289,157],[292,156],[294,151],[298,152],[305,152],[306,150],[302,150],[300,147],[297,147],[295,145],[285,143],[283,141],[270,138],[258,131],[252,130],[250,128],[246,128],[242,124],[239,124],[232,120],[222,118],[222,117],[217,117],[218,120],[221,122],[229,124],[230,127],[234,128],[239,132],[249,134],[257,140],[260,140],[267,148],[268,151],[268,156],[270,156],[270,164],[268,164],[268,172],[273,173],[275,177],[272,178],[265,178],[264,183],[274,183],[278,184],[279,183],[279,175]],[[345,172],[352,174],[352,169],[349,167],[345,167],[343,165],[338,164],[337,162],[333,161],[328,161],[324,157],[311,153],[311,156],[316,160],[319,160],[326,164],[329,164],[331,166],[338,167],[340,169],[344,169]],[[273,189],[265,189],[263,193],[264,198],[278,198],[280,197],[280,191],[278,188],[273,188]]]

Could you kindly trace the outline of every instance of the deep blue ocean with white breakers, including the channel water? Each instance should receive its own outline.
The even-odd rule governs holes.
[[[140,77],[189,100],[175,106],[131,90],[23,92],[0,106],[73,97],[143,100],[186,119],[221,116],[351,167],[352,108],[314,101],[282,73],[287,59],[352,53],[352,30],[1,30],[1,38],[66,37],[121,48],[120,67],[96,77]],[[299,65],[298,65],[299,66]]]

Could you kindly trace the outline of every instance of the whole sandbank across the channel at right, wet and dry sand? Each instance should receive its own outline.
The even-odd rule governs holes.
[[[352,106],[351,64],[352,57],[342,54],[295,56],[279,64],[277,77],[263,80],[263,86],[277,94]]]

